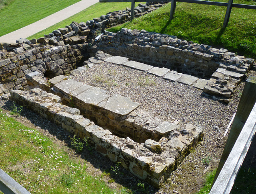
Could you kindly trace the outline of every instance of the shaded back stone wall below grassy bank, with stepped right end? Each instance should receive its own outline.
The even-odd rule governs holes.
[[[225,102],[254,64],[254,59],[235,55],[226,49],[182,41],[172,35],[126,28],[117,33],[106,32],[94,47],[88,48],[89,53],[95,53],[95,50],[208,79],[204,93],[220,96]]]

